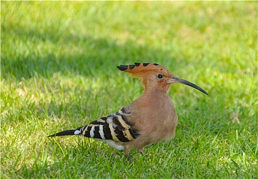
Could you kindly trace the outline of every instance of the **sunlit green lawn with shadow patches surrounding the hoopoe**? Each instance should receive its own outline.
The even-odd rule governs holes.
[[[119,64],[155,62],[182,84],[175,139],[148,158],[46,138],[138,98]],[[258,176],[257,2],[1,2],[1,178]]]

